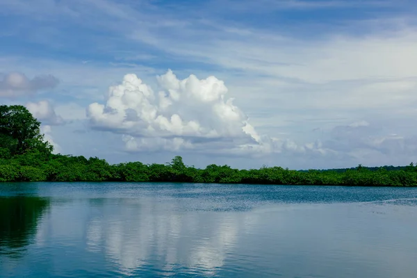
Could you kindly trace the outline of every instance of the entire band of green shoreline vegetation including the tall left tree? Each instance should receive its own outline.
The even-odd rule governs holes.
[[[228,165],[205,169],[186,166],[181,156],[171,163],[111,165],[104,159],[52,154],[40,122],[24,106],[0,106],[0,181],[178,181],[343,186],[417,186],[417,167],[359,165],[343,170],[296,171],[281,167],[238,170]]]

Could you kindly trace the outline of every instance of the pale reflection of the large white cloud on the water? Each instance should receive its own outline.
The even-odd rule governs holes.
[[[95,206],[99,213],[88,222],[87,249],[104,252],[125,275],[149,263],[158,264],[167,274],[186,265],[200,274],[214,275],[247,223],[243,214],[204,212],[202,217],[179,211],[175,203],[155,205],[152,199],[103,202]]]

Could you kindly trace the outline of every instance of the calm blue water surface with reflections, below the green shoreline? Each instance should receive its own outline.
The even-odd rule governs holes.
[[[0,183],[0,277],[416,277],[417,188]]]

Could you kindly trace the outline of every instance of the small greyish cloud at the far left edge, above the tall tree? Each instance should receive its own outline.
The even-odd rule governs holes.
[[[0,74],[0,97],[19,97],[38,90],[51,89],[58,85],[58,79],[52,75],[35,76],[28,79],[19,72]]]

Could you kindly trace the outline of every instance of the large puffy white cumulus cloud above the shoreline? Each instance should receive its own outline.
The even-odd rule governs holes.
[[[168,70],[157,81],[161,90],[155,92],[136,74],[126,74],[120,85],[109,88],[106,104],[88,106],[92,128],[123,134],[131,152],[325,153],[320,143],[299,146],[259,135],[215,76],[181,80]]]

